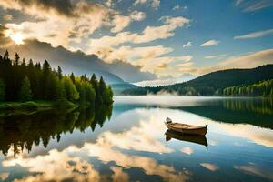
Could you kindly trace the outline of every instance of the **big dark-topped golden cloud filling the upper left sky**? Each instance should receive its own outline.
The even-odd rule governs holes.
[[[70,50],[82,47],[86,38],[101,27],[110,27],[111,32],[117,33],[132,21],[144,18],[141,12],[134,12],[133,16],[121,15],[105,5],[87,1],[4,0],[0,2],[0,6],[33,17],[31,21],[5,25],[9,29],[9,35],[20,32],[25,39],[38,39]]]

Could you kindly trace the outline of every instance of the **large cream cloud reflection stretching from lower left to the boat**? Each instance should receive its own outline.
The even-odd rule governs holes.
[[[16,159],[11,157],[6,159],[3,161],[3,165],[5,167],[20,165],[28,167],[29,172],[39,173],[35,176],[25,177],[22,180],[55,179],[61,181],[67,178],[76,179],[77,181],[99,180],[100,175],[91,164],[84,161],[82,157],[70,157],[80,154],[87,157],[96,157],[105,164],[115,162],[116,165],[110,167],[110,169],[113,171],[111,177],[116,181],[128,180],[129,175],[123,169],[131,167],[140,168],[146,175],[159,176],[166,181],[186,181],[189,177],[189,172],[186,169],[177,171],[174,167],[158,164],[155,158],[126,154],[126,150],[157,154],[173,151],[172,148],[166,147],[158,139],[163,137],[166,130],[164,123],[158,118],[165,117],[165,113],[162,113],[160,109],[155,109],[152,113],[153,115],[150,115],[150,111],[136,109],[130,115],[133,117],[141,116],[141,118],[138,117],[139,123],[136,126],[132,126],[129,130],[120,133],[106,131],[97,137],[96,142],[86,142],[83,147],[71,146],[62,152],[51,150],[47,155],[37,157],[24,157],[24,154],[22,154]],[[84,171],[80,171],[80,169]],[[67,174],[70,176],[67,176]],[[82,176],[82,174],[86,174],[86,176]]]

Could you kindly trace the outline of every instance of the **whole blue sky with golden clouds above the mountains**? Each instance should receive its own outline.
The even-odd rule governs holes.
[[[273,64],[272,17],[272,0],[1,0],[0,35],[130,65],[145,75],[127,81],[154,86]]]

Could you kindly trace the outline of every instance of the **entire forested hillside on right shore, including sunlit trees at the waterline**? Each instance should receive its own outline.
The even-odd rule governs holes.
[[[216,71],[170,86],[130,88],[122,94],[147,95],[167,92],[179,96],[272,96],[272,79],[273,65],[266,65],[252,69]]]

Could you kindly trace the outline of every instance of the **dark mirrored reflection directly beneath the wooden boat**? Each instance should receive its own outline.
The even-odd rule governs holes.
[[[202,146],[205,146],[207,148],[207,138],[206,136],[197,136],[197,135],[182,135],[176,131],[172,131],[170,129],[167,129],[165,132],[166,135],[166,141],[170,141],[172,138],[175,138],[177,140],[196,143]]]

